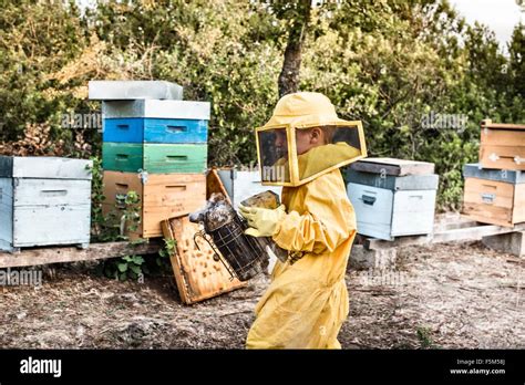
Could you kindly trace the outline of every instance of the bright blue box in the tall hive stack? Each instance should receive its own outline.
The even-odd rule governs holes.
[[[199,119],[105,118],[103,141],[115,143],[206,143],[208,122]]]

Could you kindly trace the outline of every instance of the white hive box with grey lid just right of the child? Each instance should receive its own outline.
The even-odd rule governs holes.
[[[357,162],[347,170],[358,233],[384,240],[432,233],[439,184],[433,164],[378,159]]]

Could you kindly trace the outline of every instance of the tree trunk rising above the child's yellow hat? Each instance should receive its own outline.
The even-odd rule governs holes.
[[[285,50],[285,61],[279,74],[279,97],[297,92],[299,89],[299,71],[301,67],[301,50],[305,42],[308,22],[310,20],[311,0],[299,0],[297,18],[294,20],[288,34]]]

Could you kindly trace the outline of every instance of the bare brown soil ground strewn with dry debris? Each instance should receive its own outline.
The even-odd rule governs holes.
[[[349,271],[343,348],[524,348],[525,260],[478,242],[405,247],[391,271]],[[171,277],[96,277],[86,263],[47,268],[43,285],[0,288],[0,346],[243,348],[268,285],[184,305]]]

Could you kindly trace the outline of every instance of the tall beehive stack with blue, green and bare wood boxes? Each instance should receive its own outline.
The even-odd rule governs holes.
[[[162,220],[205,204],[209,103],[182,101],[166,82],[92,83],[90,97],[103,100],[104,212],[133,190],[142,221],[128,235],[162,237]]]

